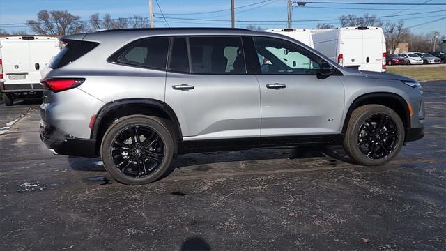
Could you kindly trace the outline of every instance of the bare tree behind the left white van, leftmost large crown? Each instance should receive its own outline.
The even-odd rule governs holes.
[[[43,35],[68,35],[84,31],[84,24],[77,15],[66,10],[40,10],[37,20],[28,20],[29,28]]]

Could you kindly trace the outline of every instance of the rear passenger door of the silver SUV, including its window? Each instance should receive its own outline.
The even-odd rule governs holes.
[[[165,100],[178,117],[185,145],[233,138],[256,144],[261,120],[259,83],[254,75],[247,75],[242,38],[172,40]]]

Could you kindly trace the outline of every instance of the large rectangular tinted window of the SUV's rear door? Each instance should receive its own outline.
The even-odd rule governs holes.
[[[242,40],[238,37],[190,37],[193,73],[246,73]]]

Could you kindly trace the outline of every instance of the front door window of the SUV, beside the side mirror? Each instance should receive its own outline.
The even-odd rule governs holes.
[[[321,68],[321,59],[310,59],[309,52],[286,40],[254,37],[254,45],[262,74],[316,75]]]

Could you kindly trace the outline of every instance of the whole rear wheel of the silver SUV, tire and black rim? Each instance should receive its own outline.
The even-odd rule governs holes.
[[[169,175],[174,139],[169,121],[155,116],[124,116],[102,138],[100,153],[107,172],[118,182],[142,185]]]

